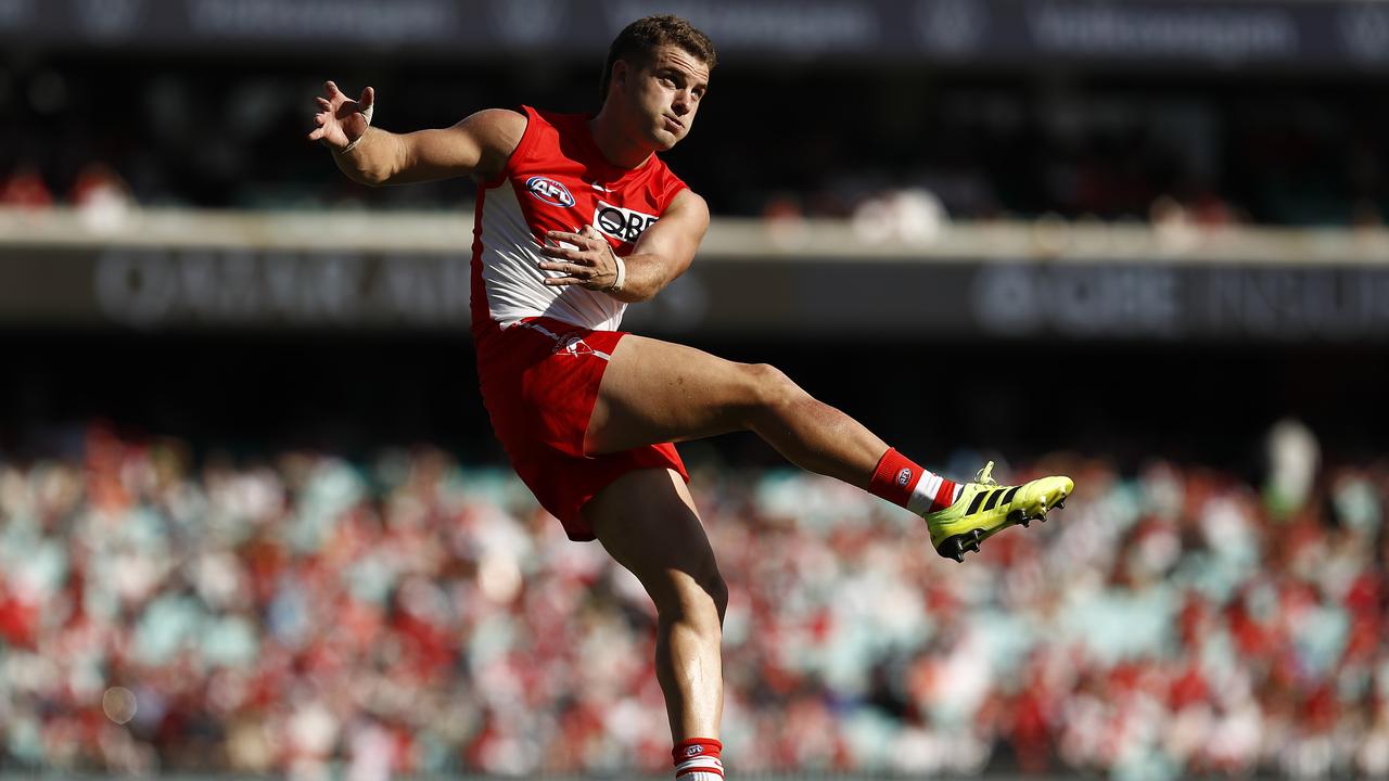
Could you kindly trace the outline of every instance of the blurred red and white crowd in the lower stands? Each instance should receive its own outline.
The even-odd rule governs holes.
[[[1000,464],[1076,493],[965,564],[831,479],[696,470],[725,762],[1385,777],[1389,461],[1320,466],[1296,425],[1270,453],[1257,485]],[[668,771],[653,628],[597,543],[439,450],[193,459],[97,425],[0,460],[0,770]]]

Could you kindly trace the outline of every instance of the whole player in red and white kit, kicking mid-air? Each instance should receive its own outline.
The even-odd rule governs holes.
[[[474,176],[472,334],[482,397],[517,474],[571,539],[599,539],[657,609],[656,671],[676,777],[724,777],[726,588],[672,442],[753,431],[796,466],[922,516],[942,556],[1043,520],[1065,477],[935,475],[781,371],[618,331],[690,264],[708,208],[658,157],[694,124],[708,38],[647,17],[613,42],[594,115],[489,108],[446,129],[371,126],[375,94],[333,82],[310,139],[368,185]]]

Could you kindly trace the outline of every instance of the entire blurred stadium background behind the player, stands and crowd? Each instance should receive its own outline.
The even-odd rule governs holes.
[[[508,470],[474,188],[304,140],[597,107],[674,11],[714,213],[638,332],[956,478],[957,566],[682,445],[731,778],[1389,775],[1389,3],[0,0],[0,774],[668,777],[654,613]]]

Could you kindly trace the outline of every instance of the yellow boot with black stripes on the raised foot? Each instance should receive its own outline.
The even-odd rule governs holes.
[[[960,489],[960,499],[939,513],[928,513],[931,545],[946,559],[964,561],[967,550],[1014,524],[1046,521],[1047,510],[1064,506],[1075,482],[1068,477],[1043,477],[1022,485],[999,485],[990,477],[993,461],[979,470],[975,482]]]

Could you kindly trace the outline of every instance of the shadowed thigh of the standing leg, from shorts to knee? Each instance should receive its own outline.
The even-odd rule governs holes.
[[[589,500],[583,516],[658,609],[683,609],[704,595],[722,618],[728,591],[694,500],[675,471],[628,472]]]

